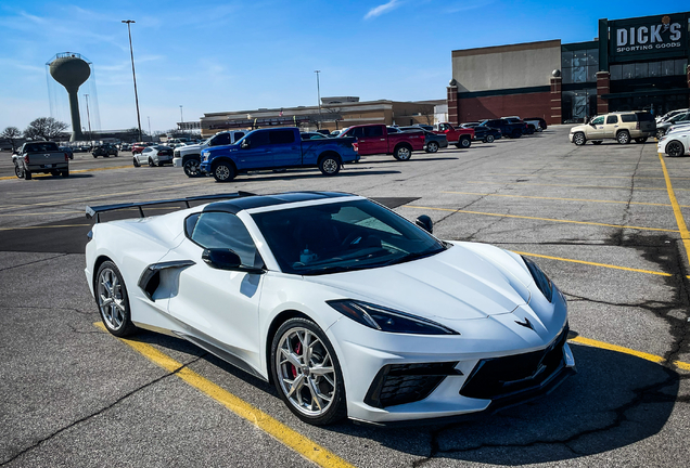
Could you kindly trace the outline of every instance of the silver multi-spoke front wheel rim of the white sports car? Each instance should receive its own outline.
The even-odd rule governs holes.
[[[280,388],[302,414],[323,415],[336,388],[336,373],[328,349],[311,330],[290,328],[280,338],[276,353]]]

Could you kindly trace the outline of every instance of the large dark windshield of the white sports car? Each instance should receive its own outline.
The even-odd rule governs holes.
[[[252,218],[285,273],[370,269],[446,249],[425,231],[369,200],[265,211]]]

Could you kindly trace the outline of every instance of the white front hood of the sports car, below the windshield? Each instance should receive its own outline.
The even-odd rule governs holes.
[[[410,262],[305,280],[336,288],[346,298],[432,320],[486,318],[529,301],[524,280],[462,245]]]

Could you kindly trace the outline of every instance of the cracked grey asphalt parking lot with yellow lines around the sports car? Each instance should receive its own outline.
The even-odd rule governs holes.
[[[69,178],[24,181],[0,153],[0,466],[686,466],[690,159],[567,131],[227,184],[87,154]],[[86,205],[238,190],[357,193],[431,216],[440,238],[531,257],[568,299],[578,374],[476,420],[316,428],[187,341],[94,325]]]

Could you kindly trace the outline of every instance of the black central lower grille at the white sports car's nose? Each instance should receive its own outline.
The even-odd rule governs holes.
[[[560,370],[567,326],[545,350],[482,360],[460,389],[463,396],[496,400],[541,387]]]

